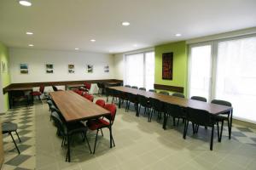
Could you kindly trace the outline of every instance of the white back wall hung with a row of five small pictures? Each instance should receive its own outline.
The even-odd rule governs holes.
[[[58,82],[115,78],[113,55],[76,51],[9,48],[11,83]],[[29,73],[20,74],[20,64],[28,64]],[[45,64],[54,65],[54,74],[47,74]],[[75,73],[67,72],[67,65],[75,65]],[[94,65],[93,73],[86,72],[86,65]],[[109,65],[109,73],[104,66]]]

